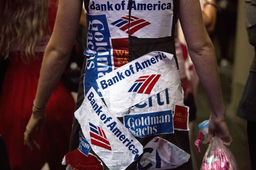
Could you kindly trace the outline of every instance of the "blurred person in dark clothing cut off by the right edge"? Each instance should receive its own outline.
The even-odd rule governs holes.
[[[249,43],[254,46],[254,59],[236,115],[247,120],[251,169],[254,170],[256,169],[256,0],[244,1],[245,27]]]

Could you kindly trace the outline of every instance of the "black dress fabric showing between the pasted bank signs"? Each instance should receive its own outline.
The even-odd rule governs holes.
[[[84,0],[86,9],[88,9],[89,5],[89,0]],[[131,0],[129,1],[131,3]],[[129,36],[129,61],[133,61],[136,58],[141,57],[142,55],[148,54],[151,51],[163,51],[163,52],[168,52],[170,54],[173,54],[175,56],[176,60],[176,53],[175,53],[175,43],[174,43],[174,34],[175,34],[175,24],[176,24],[176,18],[177,18],[177,11],[178,11],[178,0],[173,0],[173,28],[172,28],[172,36],[170,37],[163,37],[163,38],[138,38],[134,36]],[[131,10],[131,9],[130,9]],[[129,12],[131,14],[131,11]],[[155,28],[158,29],[158,28]],[[178,62],[176,60],[177,64],[177,69],[178,69]],[[77,107],[78,109],[84,99],[84,85],[83,85],[83,80],[84,80],[84,70],[85,70],[85,63],[83,66],[82,70],[82,75],[80,79],[80,86],[78,89],[78,100],[77,100]],[[122,118],[119,118],[119,120],[122,122]],[[72,134],[71,134],[71,144],[69,150],[72,151],[74,149],[78,148],[79,145],[79,131],[81,130],[80,125],[78,124],[77,119],[74,118],[73,121],[73,127],[72,127]],[[175,133],[172,134],[158,134],[154,136],[148,136],[145,138],[139,138],[136,137],[136,139],[143,145],[145,146],[151,139],[154,137],[159,136],[163,139],[168,140],[169,142],[173,143],[174,145],[178,146],[188,154],[190,154],[190,143],[188,139],[188,131],[176,131]],[[90,152],[94,155],[92,149]],[[99,158],[99,157],[98,157]],[[139,157],[138,160],[140,160],[141,156]],[[103,163],[103,162],[102,162]],[[108,169],[105,164],[104,165],[104,170]],[[133,162],[130,166],[126,168],[127,170],[135,170],[137,169],[137,161]],[[177,170],[190,170],[192,169],[192,161],[191,158],[188,160],[187,163],[184,163],[182,166],[179,166],[176,168]]]

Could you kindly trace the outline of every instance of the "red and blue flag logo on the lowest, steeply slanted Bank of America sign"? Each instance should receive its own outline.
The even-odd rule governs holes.
[[[107,140],[104,130],[99,128],[98,126],[93,125],[90,122],[89,122],[89,125],[90,125],[90,137],[91,137],[92,145],[96,145],[111,151],[111,146]]]

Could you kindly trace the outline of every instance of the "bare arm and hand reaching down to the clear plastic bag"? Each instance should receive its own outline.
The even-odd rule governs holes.
[[[225,122],[217,61],[214,47],[205,30],[199,1],[180,0],[179,3],[179,19],[188,51],[212,109],[209,136],[216,134],[229,145],[232,139]]]

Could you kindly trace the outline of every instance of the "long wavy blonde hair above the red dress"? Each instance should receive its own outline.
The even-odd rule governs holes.
[[[0,60],[11,46],[19,46],[23,61],[35,55],[35,47],[48,31],[48,0],[3,0],[0,4]]]

